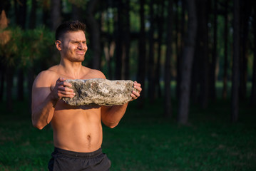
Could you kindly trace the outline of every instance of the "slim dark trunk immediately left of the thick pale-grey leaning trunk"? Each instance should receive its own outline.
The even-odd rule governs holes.
[[[172,21],[173,21],[173,0],[168,2],[168,18],[167,18],[167,37],[166,37],[166,56],[165,56],[165,117],[172,116],[171,89],[170,89],[170,58],[172,56]]]

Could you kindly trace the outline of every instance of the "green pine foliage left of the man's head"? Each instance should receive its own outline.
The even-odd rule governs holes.
[[[10,35],[7,43],[1,43],[1,62],[17,68],[46,68],[56,63],[51,58],[54,51],[54,33],[45,27],[22,30],[19,27],[6,29]]]

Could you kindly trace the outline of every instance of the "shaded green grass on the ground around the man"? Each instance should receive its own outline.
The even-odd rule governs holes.
[[[116,128],[103,127],[103,152],[111,170],[256,170],[256,112],[240,103],[232,124],[230,103],[210,103],[207,110],[191,106],[190,123],[162,118],[161,101],[128,110]],[[175,102],[174,102],[175,105]],[[47,170],[53,150],[52,130],[31,125],[29,105],[15,103],[8,113],[1,103],[0,170]]]

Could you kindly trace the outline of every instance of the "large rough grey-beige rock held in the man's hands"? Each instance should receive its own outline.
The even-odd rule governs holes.
[[[63,98],[69,105],[123,105],[132,99],[133,81],[109,81],[102,78],[66,80],[76,95]]]

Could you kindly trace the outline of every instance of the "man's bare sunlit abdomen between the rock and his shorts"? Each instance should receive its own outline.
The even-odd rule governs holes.
[[[99,106],[71,106],[59,100],[51,125],[55,147],[75,152],[93,152],[101,147]]]

